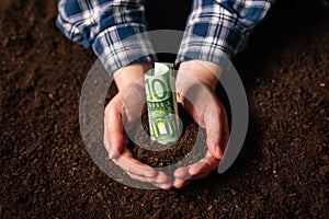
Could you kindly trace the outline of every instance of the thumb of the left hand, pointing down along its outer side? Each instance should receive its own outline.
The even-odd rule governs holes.
[[[122,105],[115,97],[105,108],[104,124],[110,159],[117,158],[123,149],[124,136],[121,108]]]

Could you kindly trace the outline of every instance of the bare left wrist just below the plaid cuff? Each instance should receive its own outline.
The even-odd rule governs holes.
[[[144,84],[144,74],[152,68],[151,62],[132,64],[113,72],[113,79],[118,92],[127,90],[136,83]]]

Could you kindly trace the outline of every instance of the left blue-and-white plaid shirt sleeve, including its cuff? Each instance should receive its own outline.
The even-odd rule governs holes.
[[[106,71],[156,61],[146,34],[144,0],[59,0],[56,25],[71,41],[92,47]]]

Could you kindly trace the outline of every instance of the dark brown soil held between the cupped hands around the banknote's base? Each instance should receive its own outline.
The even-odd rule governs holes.
[[[141,119],[143,125],[136,127],[134,132],[133,142],[135,143],[131,143],[133,155],[143,163],[154,168],[173,165],[188,155],[191,157],[189,161],[180,163],[180,165],[189,165],[204,158],[206,154],[206,147],[203,147],[206,145],[205,130],[200,128],[198,132],[197,124],[184,112],[181,104],[179,104],[179,115],[183,124],[181,138],[175,143],[163,146],[149,138],[145,138],[145,134],[149,134],[149,126],[147,114],[144,114]],[[196,137],[198,140],[196,140]],[[195,147],[196,151],[190,153],[193,147]]]

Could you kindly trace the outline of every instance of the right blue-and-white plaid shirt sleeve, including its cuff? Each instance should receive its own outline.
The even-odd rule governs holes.
[[[190,59],[220,65],[240,51],[272,0],[194,0],[175,64]]]

